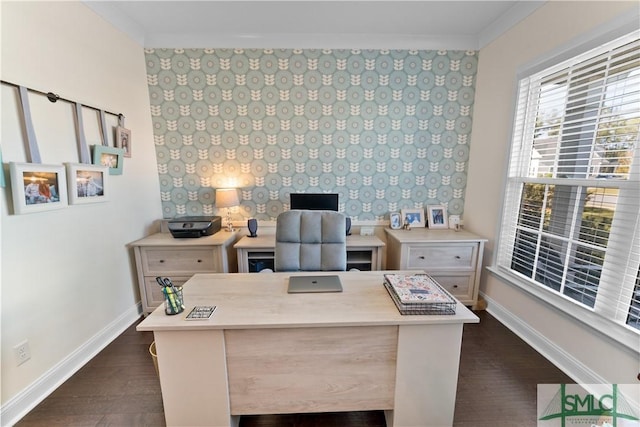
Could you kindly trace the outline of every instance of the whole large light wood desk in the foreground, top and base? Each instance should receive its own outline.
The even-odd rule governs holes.
[[[362,410],[385,410],[388,426],[452,425],[462,327],[479,319],[462,304],[402,316],[383,272],[339,274],[342,293],[291,295],[289,273],[193,276],[184,313],[159,307],[137,327],[155,336],[167,425]],[[184,320],[194,305],[218,308]]]

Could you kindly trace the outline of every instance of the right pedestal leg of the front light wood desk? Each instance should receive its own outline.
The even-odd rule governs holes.
[[[388,427],[451,426],[462,324],[409,325],[398,331],[396,392]]]

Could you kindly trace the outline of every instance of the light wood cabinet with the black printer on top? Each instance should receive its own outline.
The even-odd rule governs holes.
[[[193,239],[156,233],[130,243],[136,261],[142,312],[147,315],[163,303],[157,276],[170,277],[175,285],[182,286],[197,273],[235,271],[233,243],[236,239],[237,233],[226,231]]]

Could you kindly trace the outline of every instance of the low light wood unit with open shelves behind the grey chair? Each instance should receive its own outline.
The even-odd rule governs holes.
[[[243,237],[234,245],[240,273],[273,270],[276,239],[274,235]],[[347,270],[373,271],[382,268],[384,242],[376,236],[347,236]]]

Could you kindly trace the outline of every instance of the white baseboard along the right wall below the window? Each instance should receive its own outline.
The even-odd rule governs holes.
[[[484,293],[482,297],[487,301],[487,311],[500,323],[509,328],[514,334],[522,338],[527,344],[542,354],[558,369],[571,377],[577,384],[607,384],[604,378],[589,369],[571,354],[558,347],[529,324],[507,310]]]

